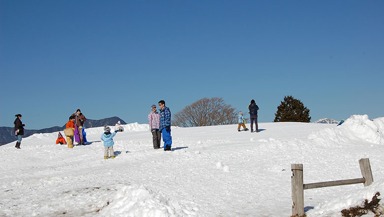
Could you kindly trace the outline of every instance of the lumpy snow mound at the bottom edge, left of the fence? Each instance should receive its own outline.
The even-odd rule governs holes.
[[[170,200],[146,186],[124,186],[100,211],[114,217],[195,217],[193,209]]]

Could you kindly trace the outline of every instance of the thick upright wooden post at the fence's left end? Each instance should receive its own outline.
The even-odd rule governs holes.
[[[304,216],[304,180],[303,164],[291,164],[292,217]]]

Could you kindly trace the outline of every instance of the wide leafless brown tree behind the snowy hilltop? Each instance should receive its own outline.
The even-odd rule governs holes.
[[[223,98],[203,98],[173,115],[172,125],[199,127],[237,123],[237,111]]]

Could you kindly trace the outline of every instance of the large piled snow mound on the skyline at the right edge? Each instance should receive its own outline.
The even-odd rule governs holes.
[[[368,115],[352,115],[342,125],[320,130],[308,136],[320,142],[366,141],[376,145],[384,145],[384,117],[370,120]]]

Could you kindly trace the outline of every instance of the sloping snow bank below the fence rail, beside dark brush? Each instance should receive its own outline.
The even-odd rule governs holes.
[[[355,206],[361,206],[364,200],[371,201],[372,197],[380,192],[378,199],[381,199],[380,205],[384,204],[384,181],[375,181],[372,185],[362,188],[354,194],[346,195],[341,199],[331,200],[326,203],[320,203],[315,209],[308,211],[307,217],[341,217],[341,211]]]

